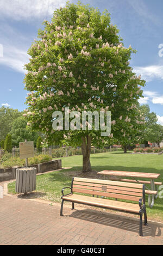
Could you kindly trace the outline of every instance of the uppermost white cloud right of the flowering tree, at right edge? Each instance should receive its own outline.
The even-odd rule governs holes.
[[[146,82],[151,82],[155,79],[163,80],[163,65],[135,66],[133,71],[137,75],[141,75]]]

